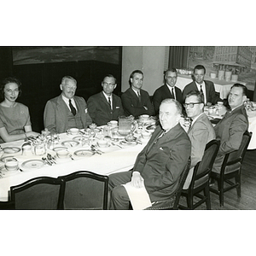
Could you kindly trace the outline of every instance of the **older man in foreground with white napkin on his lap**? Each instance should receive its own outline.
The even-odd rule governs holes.
[[[182,106],[174,99],[161,103],[160,126],[137,155],[133,170],[109,176],[111,208],[129,208],[130,198],[122,184],[130,181],[135,188],[144,187],[151,202],[166,200],[175,193],[191,150],[189,137],[178,122],[181,113]]]

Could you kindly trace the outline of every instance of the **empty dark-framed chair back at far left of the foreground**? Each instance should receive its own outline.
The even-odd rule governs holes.
[[[16,210],[57,210],[61,208],[62,189],[59,178],[34,177],[10,187],[10,196]]]

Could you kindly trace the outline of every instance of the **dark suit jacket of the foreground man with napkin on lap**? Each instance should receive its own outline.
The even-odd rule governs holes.
[[[133,167],[133,172],[141,173],[151,201],[173,195],[191,151],[189,137],[181,125],[177,124],[160,137],[162,132],[157,126]]]

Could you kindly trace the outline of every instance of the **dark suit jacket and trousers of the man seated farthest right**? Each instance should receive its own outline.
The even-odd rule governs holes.
[[[248,119],[243,105],[232,112],[225,113],[224,118],[214,127],[216,138],[220,140],[220,147],[212,167],[212,172],[220,172],[224,155],[240,147],[242,135],[247,129]]]

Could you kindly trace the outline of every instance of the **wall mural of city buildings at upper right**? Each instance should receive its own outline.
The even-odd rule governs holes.
[[[254,89],[256,79],[256,46],[189,46],[188,67],[201,64],[212,78],[230,72],[238,81]],[[219,72],[220,71],[220,72]],[[220,79],[226,79],[225,76]]]

